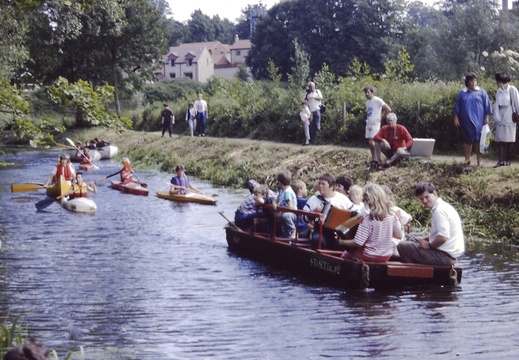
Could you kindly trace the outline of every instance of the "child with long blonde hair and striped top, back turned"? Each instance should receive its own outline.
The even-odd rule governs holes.
[[[361,259],[385,262],[393,255],[392,237],[402,237],[402,226],[392,202],[377,184],[367,184],[363,189],[364,204],[369,210],[364,221],[359,224],[353,240],[343,240],[346,251],[343,259]]]

